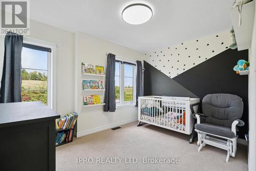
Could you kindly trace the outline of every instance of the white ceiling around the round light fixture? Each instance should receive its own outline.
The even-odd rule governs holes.
[[[231,28],[229,9],[233,0],[32,0],[31,19],[86,32],[141,52],[171,47]],[[129,25],[121,12],[134,3],[153,9],[150,22]]]

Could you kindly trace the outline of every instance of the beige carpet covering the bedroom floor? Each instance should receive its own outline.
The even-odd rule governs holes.
[[[206,145],[198,152],[196,142],[188,143],[188,135],[149,124],[137,127],[137,122],[121,127],[80,137],[57,147],[56,170],[248,170],[247,146],[238,144],[236,157],[230,157],[226,163],[226,151]],[[78,157],[92,157],[93,163],[77,163]],[[96,163],[100,157],[112,157],[112,162],[114,158],[122,159],[117,159],[116,164]],[[137,158],[139,163],[125,163],[125,158],[129,162],[127,157]],[[143,163],[143,158],[155,157],[178,158],[179,163]]]

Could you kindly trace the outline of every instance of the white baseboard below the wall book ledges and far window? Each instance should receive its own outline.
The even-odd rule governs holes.
[[[127,120],[123,120],[123,121],[120,121],[120,122],[111,123],[109,125],[95,127],[93,129],[90,129],[90,130],[81,131],[81,132],[76,134],[76,137],[79,138],[79,137],[82,137],[82,136],[85,136],[85,135],[89,135],[89,134],[96,133],[96,132],[103,131],[103,130],[108,130],[108,129],[111,129],[113,127],[120,126],[120,125],[130,123],[130,122],[134,122],[134,121],[138,121],[138,118],[127,119]]]

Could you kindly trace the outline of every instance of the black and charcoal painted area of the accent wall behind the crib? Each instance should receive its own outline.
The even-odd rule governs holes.
[[[233,67],[239,59],[248,61],[248,50],[226,51],[200,63],[173,79],[144,61],[144,95],[195,97],[201,100],[207,94],[228,93],[240,96],[244,102],[239,138],[248,133],[248,76],[239,75]]]

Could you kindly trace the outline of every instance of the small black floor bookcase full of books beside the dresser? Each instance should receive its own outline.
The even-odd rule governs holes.
[[[76,126],[77,118],[78,114],[72,112],[61,117],[60,119],[55,120],[56,146],[67,144],[73,141],[74,128]]]

